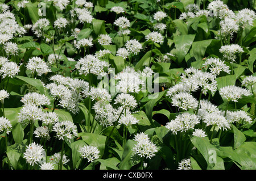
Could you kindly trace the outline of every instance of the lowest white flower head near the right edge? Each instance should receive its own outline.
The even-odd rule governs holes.
[[[239,111],[227,111],[226,112],[226,119],[229,123],[238,123],[238,124],[251,124],[253,120],[247,114],[247,112],[239,110]]]

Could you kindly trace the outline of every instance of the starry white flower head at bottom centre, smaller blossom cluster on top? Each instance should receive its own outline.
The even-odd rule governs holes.
[[[147,134],[143,132],[135,134],[134,141],[137,143],[133,147],[136,155],[146,158],[152,158],[158,152],[158,148],[150,141]]]

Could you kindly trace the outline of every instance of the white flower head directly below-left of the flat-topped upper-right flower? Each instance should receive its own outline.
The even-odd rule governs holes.
[[[225,64],[225,61],[221,61],[220,58],[207,58],[205,60],[204,66],[210,69],[210,72],[216,75],[220,75],[221,71],[225,71],[229,74],[229,66]]]

